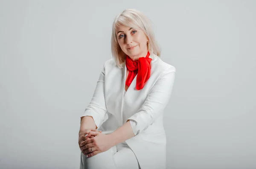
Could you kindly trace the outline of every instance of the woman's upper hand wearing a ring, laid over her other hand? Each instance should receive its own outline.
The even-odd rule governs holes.
[[[90,139],[87,139],[81,142],[81,151],[84,155],[88,155],[88,157],[92,157],[101,152],[105,152],[114,146],[110,135],[105,135],[100,132],[89,132],[87,137],[94,136]]]

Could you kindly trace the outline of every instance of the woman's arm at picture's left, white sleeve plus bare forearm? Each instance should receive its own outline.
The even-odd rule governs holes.
[[[93,97],[90,101],[90,104],[84,110],[84,115],[81,117],[81,126],[80,130],[87,129],[91,127],[93,129],[98,129],[105,118],[107,113],[105,95],[104,95],[104,86],[105,86],[105,64],[102,72],[99,76],[99,80],[94,90]]]

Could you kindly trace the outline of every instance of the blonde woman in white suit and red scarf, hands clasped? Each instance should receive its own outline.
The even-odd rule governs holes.
[[[80,169],[164,169],[175,67],[160,59],[150,20],[135,9],[114,20],[111,47],[81,117]]]

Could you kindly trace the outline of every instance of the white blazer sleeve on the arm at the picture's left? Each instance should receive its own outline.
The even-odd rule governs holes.
[[[96,88],[93,93],[93,97],[84,110],[84,115],[81,116],[81,120],[84,116],[91,116],[96,124],[96,129],[98,129],[105,118],[107,113],[106,103],[105,103],[105,93],[104,93],[104,86],[105,86],[105,64],[102,72],[99,75],[99,80],[97,81]],[[80,121],[81,123],[81,121]]]

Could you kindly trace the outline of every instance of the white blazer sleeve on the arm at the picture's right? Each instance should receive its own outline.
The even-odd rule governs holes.
[[[166,107],[171,97],[175,72],[174,66],[164,70],[138,112],[127,119],[130,120],[134,135],[147,129]]]

